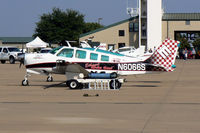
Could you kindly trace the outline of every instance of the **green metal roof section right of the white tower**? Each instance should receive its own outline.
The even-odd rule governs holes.
[[[200,21],[200,13],[164,13],[163,21]]]

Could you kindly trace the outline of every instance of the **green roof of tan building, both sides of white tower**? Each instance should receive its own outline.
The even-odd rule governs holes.
[[[105,29],[108,29],[108,28],[111,28],[111,27],[114,27],[114,26],[117,26],[117,25],[120,25],[122,23],[131,21],[131,20],[134,20],[135,18],[138,18],[138,16],[132,17],[132,18],[129,18],[126,20],[122,20],[120,22],[105,26],[105,27],[97,29],[97,30],[90,31],[88,33],[81,34],[80,38],[90,35],[90,34],[93,34],[93,33],[96,33],[96,32],[99,32],[99,31],[102,31],[102,30],[105,30]],[[162,20],[163,21],[185,21],[185,20],[200,21],[200,13],[164,13]]]

